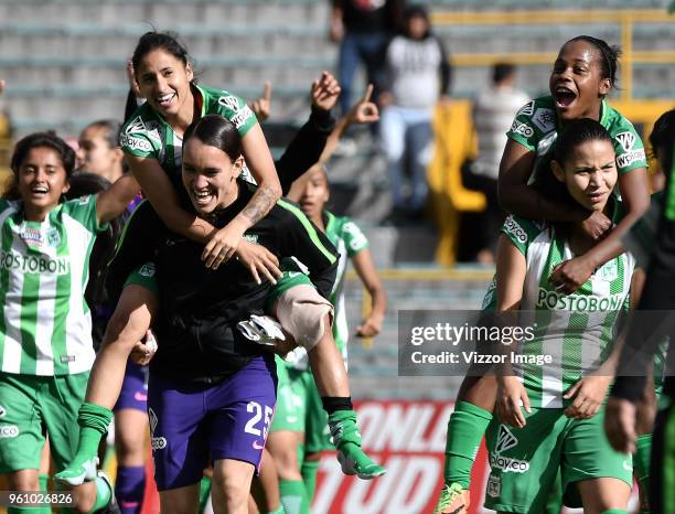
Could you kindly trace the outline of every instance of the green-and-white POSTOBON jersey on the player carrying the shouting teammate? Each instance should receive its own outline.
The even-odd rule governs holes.
[[[519,354],[524,362],[513,368],[523,377],[533,407],[564,407],[571,401],[562,399],[565,392],[611,353],[617,321],[628,310],[635,259],[621,254],[598,268],[575,293],[565,295],[548,281],[558,264],[575,257],[565,234],[513,215],[504,222],[502,233],[527,261],[519,323],[532,328],[534,335],[523,341]],[[494,293],[491,288],[489,296]],[[486,300],[494,302],[494,298]],[[551,358],[548,364],[539,357],[547,355]]]

